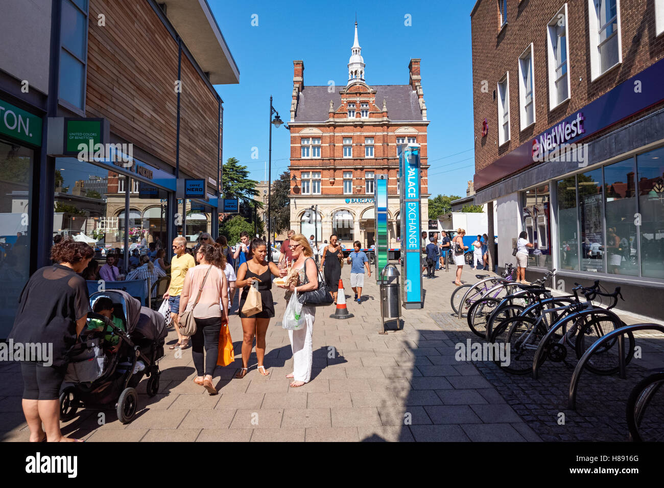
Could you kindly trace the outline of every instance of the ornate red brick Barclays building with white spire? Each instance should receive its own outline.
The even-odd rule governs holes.
[[[293,61],[291,228],[317,240],[337,234],[374,244],[374,179],[388,175],[388,234],[398,246],[398,157],[401,143],[420,144],[422,221],[428,218],[426,104],[420,60],[408,64],[404,85],[369,85],[355,23],[345,86],[307,86],[304,62]],[[293,177],[295,179],[293,180]],[[318,213],[311,210],[318,206]]]

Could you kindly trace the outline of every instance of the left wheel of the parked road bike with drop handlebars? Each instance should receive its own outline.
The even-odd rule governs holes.
[[[501,368],[513,374],[527,374],[533,370],[533,357],[540,341],[546,335],[546,329],[531,317],[513,317],[500,325],[505,340],[506,361],[498,363]],[[499,342],[500,344],[500,342]]]

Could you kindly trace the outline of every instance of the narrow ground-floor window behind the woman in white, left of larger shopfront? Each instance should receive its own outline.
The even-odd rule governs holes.
[[[550,192],[548,185],[527,190],[523,193],[523,230],[528,241],[533,243],[529,250],[530,266],[551,269],[551,227]]]

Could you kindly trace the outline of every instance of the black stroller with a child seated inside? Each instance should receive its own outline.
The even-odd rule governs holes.
[[[80,341],[70,351],[70,363],[64,378],[66,386],[60,394],[60,419],[70,420],[78,408],[98,408],[114,405],[118,419],[123,424],[133,420],[138,406],[138,386],[143,375],[148,377],[147,394],[155,396],[159,391],[159,366],[157,361],[164,355],[164,342],[167,335],[163,315],[148,307],[141,307],[140,301],[122,290],[106,290],[93,293],[90,307],[100,297],[108,297],[113,302],[113,315],[122,320],[125,331],[116,327],[110,319],[98,313],[88,313],[90,319],[99,319],[112,327],[102,331],[84,331]],[[116,353],[105,351],[104,339],[107,335],[117,335],[122,339]],[[145,368],[140,369],[141,361]]]

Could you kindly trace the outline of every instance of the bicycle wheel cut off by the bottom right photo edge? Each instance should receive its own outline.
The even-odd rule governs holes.
[[[634,442],[664,441],[664,372],[643,378],[627,398],[627,427]]]

